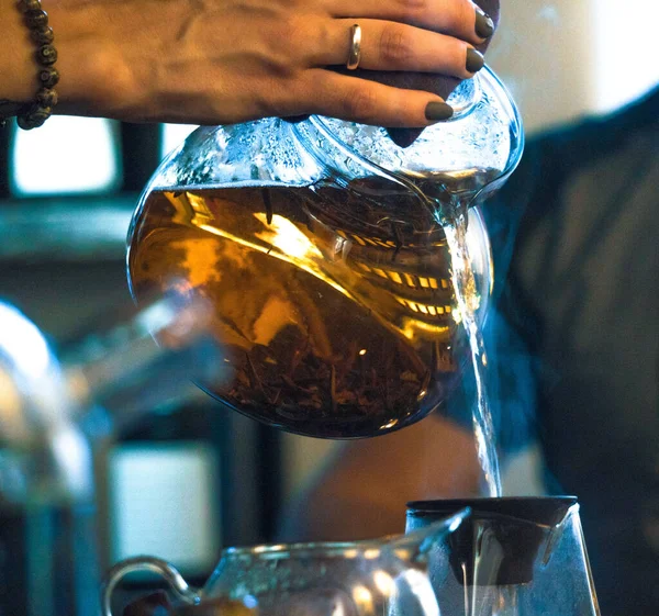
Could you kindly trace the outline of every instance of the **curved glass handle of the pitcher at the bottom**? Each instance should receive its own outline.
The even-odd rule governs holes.
[[[108,572],[101,589],[103,616],[112,616],[110,603],[114,587],[122,578],[134,571],[150,571],[152,573],[158,573],[169,584],[176,597],[189,605],[197,605],[201,601],[200,591],[189,586],[186,580],[183,580],[183,576],[172,564],[169,564],[169,562],[159,558],[138,556],[118,562]]]

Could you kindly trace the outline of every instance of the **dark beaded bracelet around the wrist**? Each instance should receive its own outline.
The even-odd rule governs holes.
[[[53,29],[48,25],[48,14],[42,9],[41,0],[19,0],[16,5],[37,47],[34,58],[38,65],[38,90],[33,102],[15,110],[19,126],[29,131],[51,117],[57,104],[54,87],[59,81],[59,72],[53,66],[57,60],[57,49],[53,45]]]

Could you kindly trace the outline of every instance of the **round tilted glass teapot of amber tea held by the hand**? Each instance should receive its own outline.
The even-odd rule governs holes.
[[[488,68],[448,102],[454,116],[409,147],[380,127],[267,119],[201,127],[163,163],[131,225],[130,285],[137,302],[212,306],[224,366],[202,389],[325,438],[399,429],[446,399],[469,351],[444,228],[466,225],[482,320],[492,271],[474,205],[523,148]]]

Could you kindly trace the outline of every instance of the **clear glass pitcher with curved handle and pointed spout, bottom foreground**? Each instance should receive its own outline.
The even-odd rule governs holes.
[[[108,575],[103,616],[112,616],[118,582],[134,571],[163,575],[176,597],[163,611],[176,616],[439,616],[427,555],[467,515],[463,509],[415,533],[381,540],[228,548],[200,590],[188,586],[163,560],[129,559]],[[131,608],[141,613],[139,602]]]

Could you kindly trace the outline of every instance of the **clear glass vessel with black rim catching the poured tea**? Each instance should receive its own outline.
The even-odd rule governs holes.
[[[431,556],[433,586],[451,616],[600,616],[573,496],[426,501],[407,529],[469,506]]]

